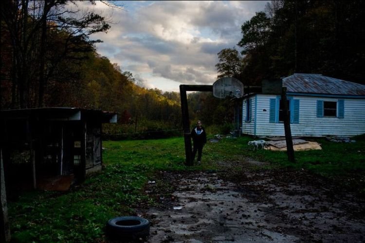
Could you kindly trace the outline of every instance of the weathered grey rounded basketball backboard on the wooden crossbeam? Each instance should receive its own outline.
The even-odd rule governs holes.
[[[217,98],[243,96],[243,83],[234,77],[219,78],[213,84],[213,95]]]

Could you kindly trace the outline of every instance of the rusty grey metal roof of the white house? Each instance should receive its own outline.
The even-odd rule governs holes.
[[[293,74],[283,78],[283,87],[293,93],[365,95],[365,85],[320,74]]]

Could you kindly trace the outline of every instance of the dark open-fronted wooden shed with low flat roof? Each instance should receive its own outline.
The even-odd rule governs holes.
[[[45,178],[85,177],[102,168],[102,123],[117,114],[79,108],[35,108],[0,112],[7,186],[39,188]]]

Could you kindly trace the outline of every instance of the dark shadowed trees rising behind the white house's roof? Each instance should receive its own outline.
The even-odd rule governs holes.
[[[219,77],[245,85],[293,73],[365,84],[365,1],[275,0],[241,26],[236,47],[219,52]]]

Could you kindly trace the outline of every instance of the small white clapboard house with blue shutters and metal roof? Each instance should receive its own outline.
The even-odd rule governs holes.
[[[365,85],[318,74],[283,78],[292,136],[354,136],[365,133]],[[242,133],[284,136],[280,95],[243,97]]]

